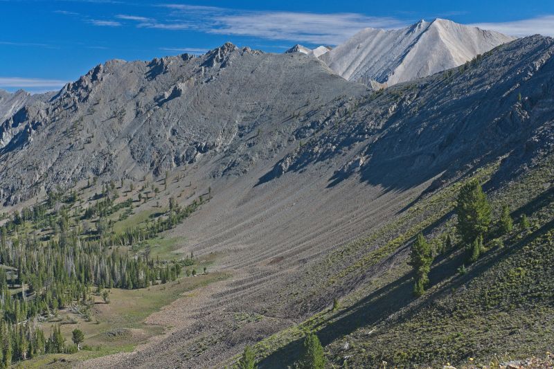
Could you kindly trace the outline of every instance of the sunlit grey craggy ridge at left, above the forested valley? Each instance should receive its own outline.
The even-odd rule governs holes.
[[[315,58],[232,44],[202,57],[111,60],[4,120],[0,199],[12,204],[91,176],[159,175],[214,156],[211,175],[242,174],[295,141],[307,116],[364,91]]]

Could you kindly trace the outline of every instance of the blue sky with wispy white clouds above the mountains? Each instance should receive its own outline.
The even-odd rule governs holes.
[[[227,41],[281,53],[436,17],[554,36],[554,1],[546,0],[0,0],[0,89],[59,89],[114,58],[199,54]]]

